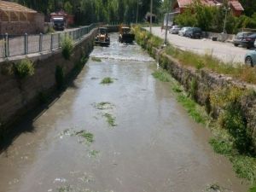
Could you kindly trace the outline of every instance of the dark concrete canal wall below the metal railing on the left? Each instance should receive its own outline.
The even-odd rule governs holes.
[[[96,29],[75,44],[69,60],[64,59],[61,49],[44,54],[26,55],[33,62],[34,74],[20,79],[15,74],[15,65],[25,56],[9,58],[0,63],[0,135],[22,115],[37,107],[45,95],[56,90],[56,67],[63,68],[64,79],[72,73],[84,55],[89,55],[94,46]]]

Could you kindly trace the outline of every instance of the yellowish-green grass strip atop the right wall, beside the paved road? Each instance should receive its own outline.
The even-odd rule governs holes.
[[[136,33],[137,44],[140,44],[144,49],[151,49],[148,44],[159,48],[163,44],[163,39],[151,35],[149,32],[141,30],[140,26],[135,26],[133,31]],[[145,40],[148,39],[148,40]],[[212,50],[206,50],[205,55],[199,55],[191,51],[183,51],[174,48],[172,45],[167,45],[164,53],[172,55],[184,66],[195,67],[196,69],[208,69],[214,73],[224,74],[234,79],[240,79],[249,84],[256,84],[256,67],[248,67],[242,63],[234,63],[230,60],[229,63],[224,63],[212,56]]]

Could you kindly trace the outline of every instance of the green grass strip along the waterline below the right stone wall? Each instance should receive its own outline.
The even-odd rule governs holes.
[[[229,131],[221,128],[217,122],[215,122],[210,116],[207,115],[204,108],[199,106],[191,97],[192,95],[184,92],[183,87],[172,78],[172,76],[165,70],[156,72],[158,75],[154,75],[154,78],[160,81],[168,82],[171,84],[171,89],[177,96],[177,101],[180,102],[183,107],[189,113],[189,116],[195,120],[195,122],[207,126],[212,131],[212,138],[209,143],[212,145],[214,151],[218,154],[224,154],[233,164],[234,171],[238,177],[246,178],[250,183],[256,183],[256,160],[249,154],[240,154],[234,147],[235,138]],[[154,73],[153,73],[154,74]],[[165,77],[165,79],[162,79]],[[250,192],[255,192],[254,189]]]

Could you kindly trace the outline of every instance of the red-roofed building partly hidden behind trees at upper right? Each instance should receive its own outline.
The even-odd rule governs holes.
[[[176,0],[174,3],[175,11],[183,13],[183,11],[188,8],[188,6],[193,3],[195,0]],[[200,0],[204,5],[208,6],[219,6],[223,3],[223,0]],[[232,10],[233,15],[240,16],[244,10],[238,0],[229,0],[229,6]]]

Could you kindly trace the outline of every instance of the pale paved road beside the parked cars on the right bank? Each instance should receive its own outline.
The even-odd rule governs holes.
[[[160,26],[153,27],[152,32],[160,38],[165,37],[165,31],[161,32]],[[183,50],[192,50],[199,54],[212,52],[218,59],[228,63],[244,63],[244,55],[247,53],[245,48],[235,47],[230,43],[213,42],[210,39],[190,39],[168,33],[168,40]]]

